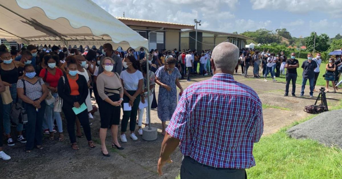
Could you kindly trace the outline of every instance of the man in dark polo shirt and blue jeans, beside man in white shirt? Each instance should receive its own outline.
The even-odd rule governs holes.
[[[307,60],[305,60],[302,64],[303,68],[303,81],[302,81],[302,91],[300,96],[304,96],[304,89],[306,85],[306,81],[309,80],[310,84],[310,98],[313,98],[313,90],[314,90],[314,78],[315,72],[314,70],[317,68],[317,63],[312,61],[312,54],[307,54]]]

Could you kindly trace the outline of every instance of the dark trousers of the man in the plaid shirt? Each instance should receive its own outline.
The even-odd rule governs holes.
[[[189,156],[184,156],[181,179],[247,179],[245,169],[214,168],[203,165]]]

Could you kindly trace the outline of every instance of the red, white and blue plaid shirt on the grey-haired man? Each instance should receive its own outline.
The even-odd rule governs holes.
[[[263,126],[257,93],[232,75],[215,74],[184,90],[166,132],[201,164],[241,169],[255,166],[253,143]]]

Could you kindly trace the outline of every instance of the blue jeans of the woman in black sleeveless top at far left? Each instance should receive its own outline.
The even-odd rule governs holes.
[[[12,96],[12,103],[15,103],[17,100],[17,84],[13,83],[11,84],[12,87],[10,87],[10,92]],[[10,112],[11,112],[11,107],[12,103],[10,104],[3,104],[2,105],[2,110],[3,110],[3,128],[5,130],[5,134],[10,134],[11,133],[11,119],[10,119]],[[17,131],[23,131],[23,124],[18,124],[17,125]]]

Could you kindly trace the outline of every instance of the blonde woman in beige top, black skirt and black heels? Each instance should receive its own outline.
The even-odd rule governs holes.
[[[105,70],[96,79],[98,95],[101,97],[100,139],[101,151],[104,156],[110,156],[105,143],[108,128],[110,128],[113,137],[112,147],[116,147],[119,150],[123,149],[118,141],[118,125],[120,123],[121,103],[123,101],[123,88],[119,74],[111,72],[114,63],[114,60],[110,57],[104,58],[102,67]]]

